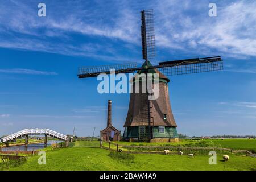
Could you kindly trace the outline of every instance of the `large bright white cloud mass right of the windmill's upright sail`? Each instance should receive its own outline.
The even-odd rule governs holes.
[[[164,23],[158,23],[160,28],[156,29],[156,35],[160,35],[161,46],[177,47],[186,52],[220,52],[230,57],[256,56],[255,1],[216,2],[216,18],[208,16],[209,3],[205,1],[197,2],[197,5],[185,1],[186,6],[180,3],[159,3],[160,22]]]

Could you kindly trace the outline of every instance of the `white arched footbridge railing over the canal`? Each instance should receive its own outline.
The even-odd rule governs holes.
[[[50,137],[58,138],[61,140],[68,139],[68,137],[66,135],[57,133],[56,131],[49,130],[49,129],[24,129],[24,130],[18,131],[17,133],[14,133],[14,134],[11,134],[11,135],[1,138],[1,141],[9,142],[14,139],[23,137],[24,135],[49,135]]]

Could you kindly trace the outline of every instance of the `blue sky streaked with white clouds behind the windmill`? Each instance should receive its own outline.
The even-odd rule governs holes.
[[[38,3],[47,16],[38,17]],[[256,135],[256,2],[2,1],[0,136],[25,128],[92,135],[126,119],[129,94],[97,93],[81,65],[142,64],[140,15],[154,9],[156,62],[221,55],[224,71],[172,76],[177,130],[187,135]]]

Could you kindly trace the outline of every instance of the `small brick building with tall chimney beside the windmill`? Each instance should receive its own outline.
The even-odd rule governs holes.
[[[111,109],[112,109],[112,101],[108,101],[108,120],[107,127],[104,130],[101,130],[101,137],[103,137],[104,141],[119,141],[121,131],[117,130],[114,126],[112,126],[112,118],[111,118]]]

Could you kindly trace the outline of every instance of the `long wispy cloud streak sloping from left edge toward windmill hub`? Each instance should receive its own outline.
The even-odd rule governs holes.
[[[79,45],[73,45],[72,43],[63,43],[61,41],[56,44],[49,42],[49,40],[17,38],[3,40],[2,42],[0,42],[0,47],[57,53],[67,56],[91,57],[93,59],[100,59],[102,61],[127,62],[128,60],[138,60],[135,58],[120,55],[118,51],[115,50],[112,45],[108,43],[102,45],[98,43],[82,43]]]

